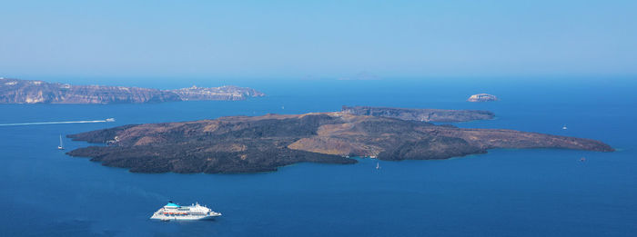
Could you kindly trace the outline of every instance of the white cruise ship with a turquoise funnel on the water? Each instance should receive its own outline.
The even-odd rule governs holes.
[[[219,212],[212,212],[206,206],[195,203],[189,206],[180,206],[175,202],[168,202],[150,217],[161,221],[171,220],[208,220],[220,216]]]

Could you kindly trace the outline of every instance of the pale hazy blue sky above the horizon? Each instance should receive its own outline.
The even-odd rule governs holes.
[[[637,74],[637,1],[2,1],[0,76]]]

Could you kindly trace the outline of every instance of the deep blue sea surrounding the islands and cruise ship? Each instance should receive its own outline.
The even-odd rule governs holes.
[[[33,78],[43,79],[47,78]],[[52,79],[52,81],[56,81]],[[60,81],[60,80],[57,80]],[[2,236],[635,236],[637,81],[631,78],[62,81],[156,88],[238,84],[268,94],[236,102],[0,104]],[[131,82],[135,82],[132,84]],[[494,103],[465,102],[496,94]],[[298,163],[272,173],[129,173],[56,150],[59,134],[130,123],[339,111],[341,105],[481,109],[455,123],[586,137],[614,153],[490,150],[441,161]],[[568,130],[562,130],[566,124]],[[66,152],[88,145],[64,139]],[[586,162],[580,162],[581,157]],[[213,222],[154,222],[172,200]]]

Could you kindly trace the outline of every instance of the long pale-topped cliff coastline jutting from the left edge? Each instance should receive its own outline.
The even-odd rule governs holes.
[[[72,85],[0,78],[0,104],[118,104],[195,100],[245,100],[264,96],[238,86],[177,90],[106,85]]]

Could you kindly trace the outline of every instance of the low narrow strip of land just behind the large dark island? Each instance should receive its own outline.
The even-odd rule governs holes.
[[[444,123],[493,119],[495,116],[492,112],[483,110],[404,109],[368,106],[349,107],[345,105],[343,105],[341,112],[355,115],[397,118],[401,120]]]

